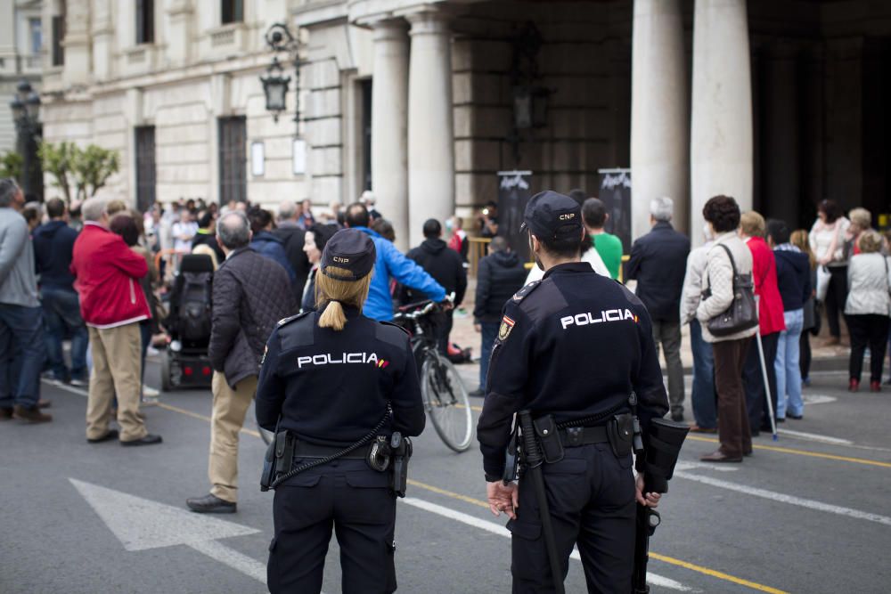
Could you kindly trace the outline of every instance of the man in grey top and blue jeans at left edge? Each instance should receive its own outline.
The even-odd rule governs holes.
[[[0,179],[0,420],[44,423],[53,418],[37,409],[44,322],[24,203],[18,184]]]

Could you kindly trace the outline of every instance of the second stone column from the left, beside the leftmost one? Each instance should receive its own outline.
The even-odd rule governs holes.
[[[423,240],[424,221],[454,215],[452,44],[446,17],[424,11],[412,23],[408,75],[408,203],[410,244]]]

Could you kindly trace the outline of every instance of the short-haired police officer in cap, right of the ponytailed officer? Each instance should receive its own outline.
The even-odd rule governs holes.
[[[544,279],[504,307],[478,423],[489,507],[511,517],[513,591],[552,591],[554,583],[533,484],[526,475],[519,487],[502,482],[511,419],[528,410],[535,433],[550,438],[540,443],[560,581],[577,541],[588,590],[628,592],[635,500],[656,507],[659,499],[644,497],[642,476],[635,485],[629,396],[636,394],[644,432],[668,411],[650,316],[625,287],[579,261],[584,228],[575,200],[536,194],[521,230]],[[563,425],[549,431],[548,421]],[[571,421],[576,427],[561,428]]]

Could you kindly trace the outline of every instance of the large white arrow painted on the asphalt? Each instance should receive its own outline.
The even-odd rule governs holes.
[[[234,570],[266,583],[266,565],[230,549],[217,539],[256,534],[256,528],[68,479],[127,550],[184,544]]]

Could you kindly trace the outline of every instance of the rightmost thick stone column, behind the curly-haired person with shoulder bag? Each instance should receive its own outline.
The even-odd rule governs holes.
[[[746,0],[696,0],[693,22],[691,236],[717,194],[752,208],[752,80]]]

